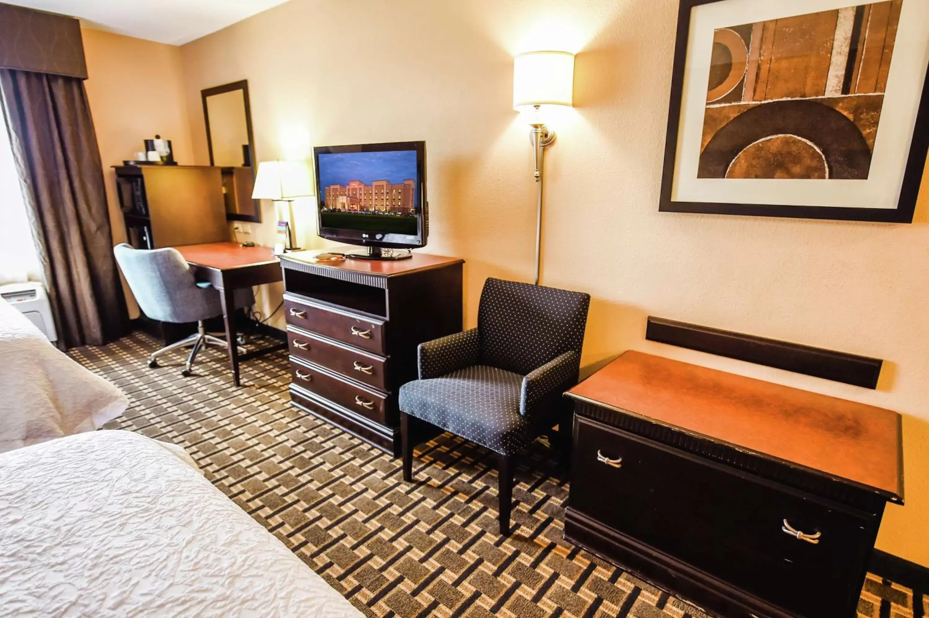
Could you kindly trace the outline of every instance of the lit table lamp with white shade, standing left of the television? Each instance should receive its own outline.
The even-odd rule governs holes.
[[[284,231],[285,243],[275,243],[274,253],[297,251],[294,246],[294,200],[313,195],[312,174],[309,165],[302,161],[263,161],[258,164],[253,200],[272,200],[277,209],[286,202],[286,214],[281,207],[278,213],[278,230]]]

